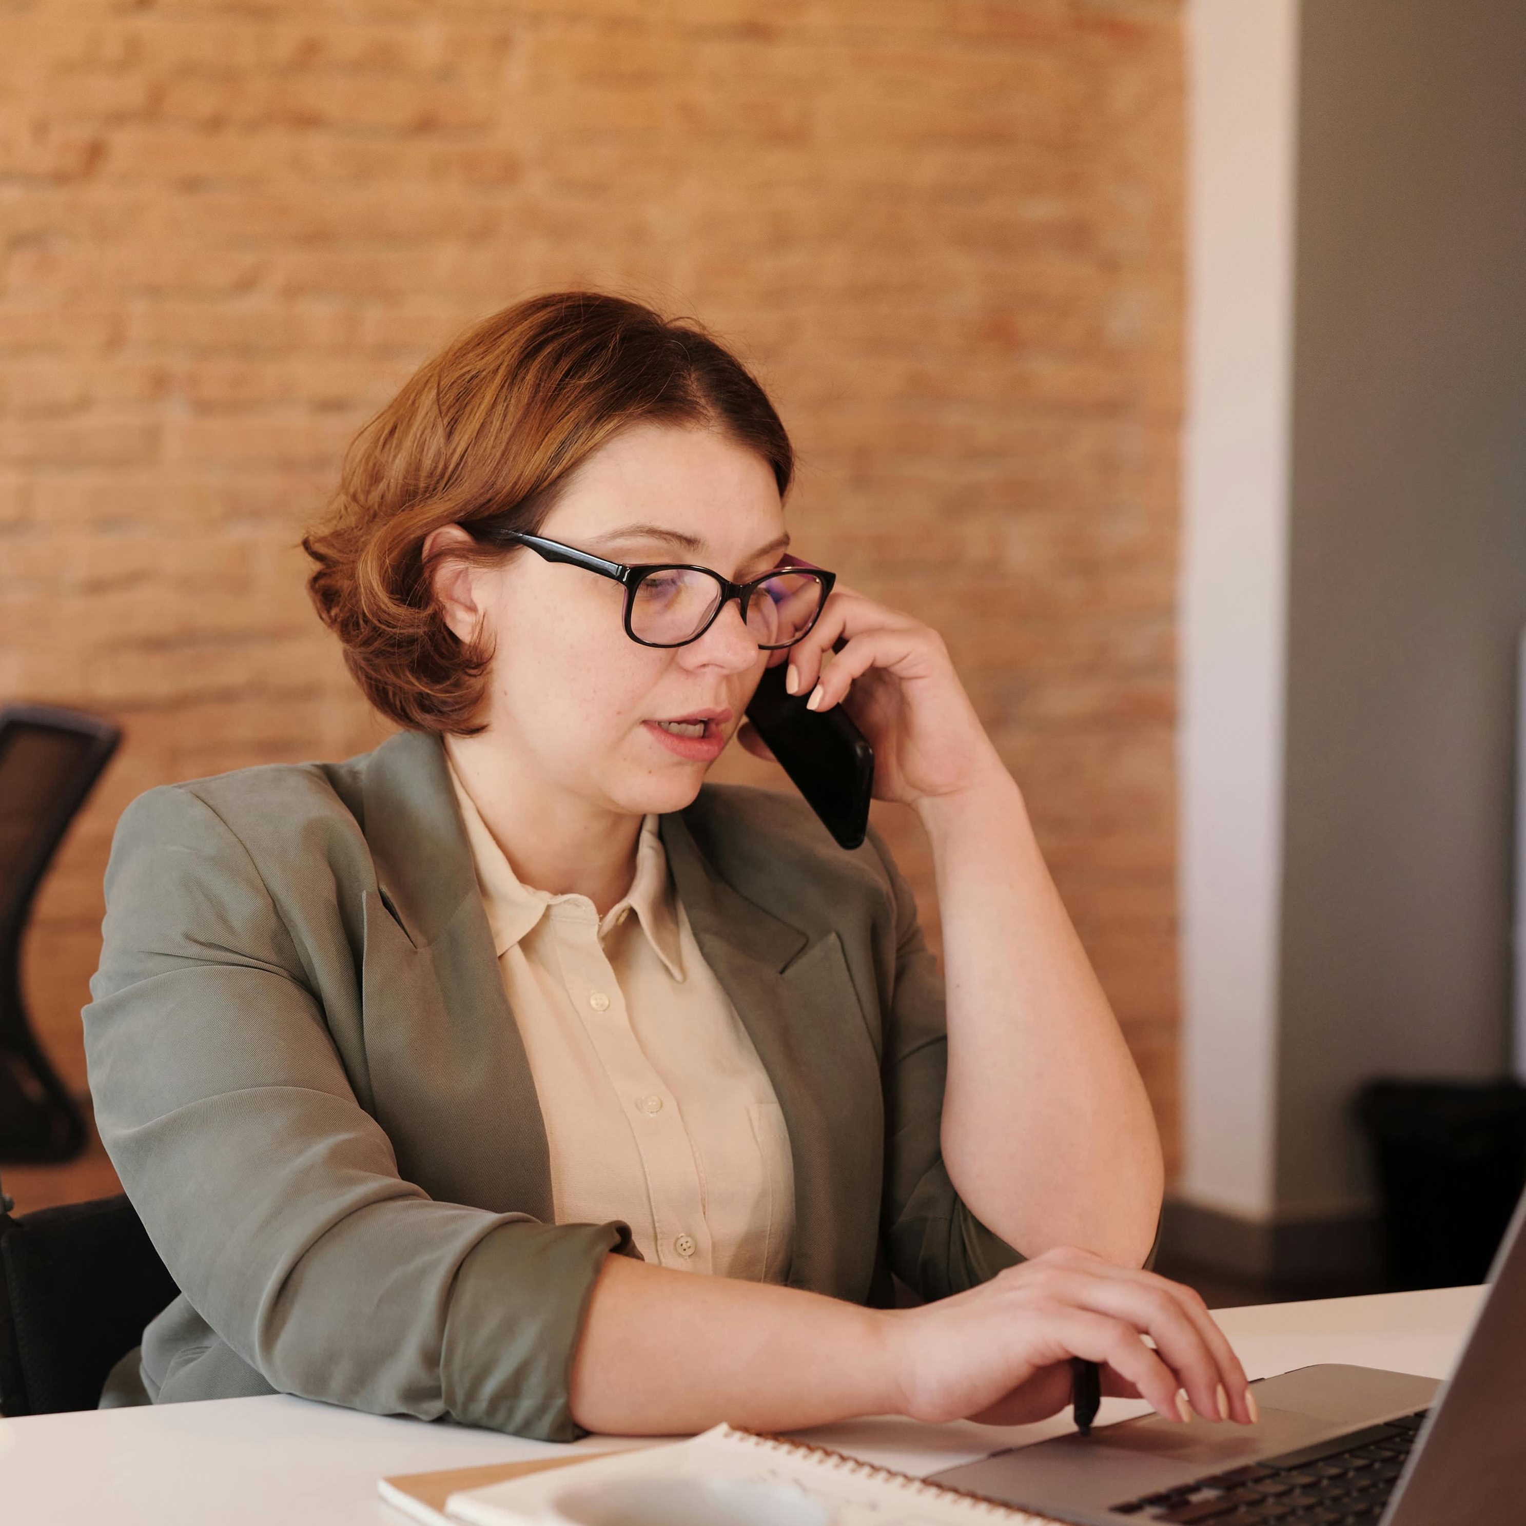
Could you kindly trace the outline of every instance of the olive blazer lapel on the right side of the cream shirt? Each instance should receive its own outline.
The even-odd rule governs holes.
[[[789,1129],[789,1283],[862,1300],[879,1236],[885,1117],[842,945],[832,931],[812,942],[732,888],[682,816],[662,818],[662,844],[694,938],[757,1048]]]

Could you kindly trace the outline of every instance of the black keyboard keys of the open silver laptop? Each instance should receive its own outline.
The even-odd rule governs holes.
[[[1372,1526],[1389,1503],[1425,1410],[1317,1447],[1114,1505],[1141,1521],[1196,1526]]]

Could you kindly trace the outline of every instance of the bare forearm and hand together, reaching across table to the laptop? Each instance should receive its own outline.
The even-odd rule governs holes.
[[[581,1425],[627,1436],[887,1413],[1021,1425],[1067,1402],[1071,1357],[1105,1363],[1105,1392],[1140,1393],[1169,1419],[1183,1418],[1183,1387],[1204,1418],[1254,1419],[1245,1372],[1196,1294],[1079,1250],[913,1309],[610,1256],[572,1363],[571,1407]]]

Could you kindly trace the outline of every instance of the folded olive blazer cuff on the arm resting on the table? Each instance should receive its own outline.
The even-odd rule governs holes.
[[[439,1355],[446,1412],[465,1425],[577,1441],[571,1367],[594,1283],[610,1253],[641,1253],[630,1227],[519,1219],[461,1262]]]

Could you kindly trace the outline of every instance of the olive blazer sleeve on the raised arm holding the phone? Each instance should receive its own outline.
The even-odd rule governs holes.
[[[896,940],[882,1059],[882,1241],[890,1270],[906,1286],[923,1299],[943,1299],[987,1282],[1022,1256],[971,1213],[943,1164],[943,975],[917,922],[911,887],[879,835],[871,830],[870,838],[890,879]]]

